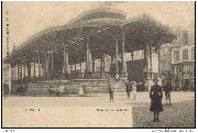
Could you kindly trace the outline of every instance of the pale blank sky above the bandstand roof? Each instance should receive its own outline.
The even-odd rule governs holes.
[[[19,46],[33,34],[51,26],[66,24],[92,9],[118,9],[127,14],[127,19],[146,13],[176,30],[178,25],[187,29],[195,20],[194,7],[194,2],[3,2],[2,48],[6,49],[7,45],[7,23],[11,51],[13,44]],[[6,51],[2,52],[4,57]]]

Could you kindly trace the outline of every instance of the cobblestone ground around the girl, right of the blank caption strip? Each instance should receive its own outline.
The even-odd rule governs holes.
[[[195,128],[194,92],[172,92],[172,106],[166,106],[163,98],[163,107],[160,122],[152,122],[150,102],[145,102],[145,99],[133,102],[133,128]]]

